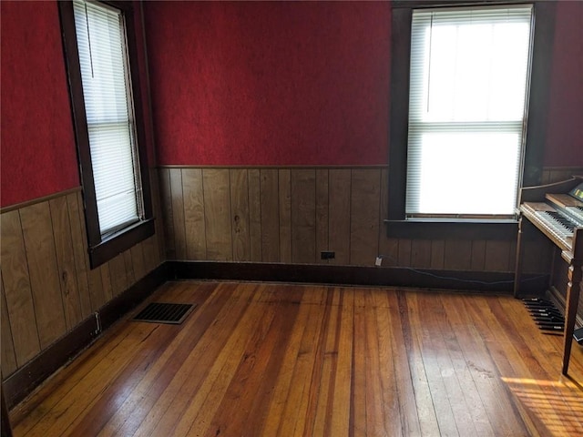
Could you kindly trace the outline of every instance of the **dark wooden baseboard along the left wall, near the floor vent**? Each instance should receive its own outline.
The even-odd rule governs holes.
[[[148,298],[168,277],[167,263],[161,264],[10,375],[3,382],[7,407],[10,409],[25,399],[42,381],[86,349],[104,330]]]

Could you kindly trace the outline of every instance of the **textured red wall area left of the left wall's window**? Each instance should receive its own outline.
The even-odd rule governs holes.
[[[79,185],[56,2],[0,2],[3,207]]]

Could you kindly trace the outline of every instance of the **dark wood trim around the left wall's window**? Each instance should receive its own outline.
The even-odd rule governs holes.
[[[136,125],[136,140],[138,143],[139,168],[143,195],[144,218],[128,228],[103,239],[97,221],[97,198],[89,151],[89,136],[87,132],[87,116],[81,82],[81,69],[77,51],[77,34],[73,4],[70,1],[58,2],[63,36],[63,49],[66,61],[66,71],[69,81],[71,112],[77,142],[77,158],[79,173],[83,188],[85,219],[87,225],[87,242],[91,268],[107,262],[118,253],[131,248],[138,242],[154,234],[154,220],[148,177],[148,153],[146,150],[146,134],[142,117],[142,98],[140,94],[138,75],[138,46],[132,2],[102,2],[122,11],[126,22],[128,62],[131,76],[133,110]]]

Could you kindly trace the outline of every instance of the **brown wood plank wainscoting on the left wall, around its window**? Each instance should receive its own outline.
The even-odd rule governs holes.
[[[154,210],[160,217],[158,175],[153,173]],[[165,259],[158,219],[154,236],[90,269],[80,190],[5,208],[0,220],[4,378]]]

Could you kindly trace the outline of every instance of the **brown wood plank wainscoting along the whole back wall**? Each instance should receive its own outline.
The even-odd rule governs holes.
[[[159,179],[168,259],[373,266],[381,255],[384,266],[514,271],[516,241],[386,238],[386,167],[159,168]]]

